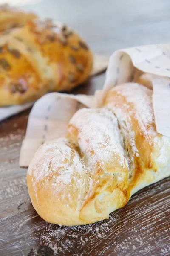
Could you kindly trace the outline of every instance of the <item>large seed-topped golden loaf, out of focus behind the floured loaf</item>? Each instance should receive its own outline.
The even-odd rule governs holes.
[[[0,37],[0,106],[22,104],[85,81],[93,56],[75,32],[34,19]]]

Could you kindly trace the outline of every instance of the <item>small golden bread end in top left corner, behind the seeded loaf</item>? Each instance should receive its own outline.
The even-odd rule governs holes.
[[[22,12],[7,4],[0,6],[0,32],[7,32],[8,29],[23,26],[28,20],[37,18],[33,13]]]

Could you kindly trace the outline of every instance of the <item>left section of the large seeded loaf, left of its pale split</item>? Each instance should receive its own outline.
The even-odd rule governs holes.
[[[33,101],[48,91],[27,58],[27,49],[14,38],[0,39],[0,106]],[[9,42],[9,43],[8,43]],[[22,48],[23,47],[23,48]]]

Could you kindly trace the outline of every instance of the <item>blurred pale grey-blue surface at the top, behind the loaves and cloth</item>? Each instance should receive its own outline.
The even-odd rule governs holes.
[[[106,55],[170,41],[170,0],[42,0],[22,7],[67,23]]]

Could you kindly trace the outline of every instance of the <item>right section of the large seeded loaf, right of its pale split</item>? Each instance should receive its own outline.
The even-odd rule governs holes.
[[[13,35],[22,38],[48,60],[54,76],[51,90],[71,90],[88,78],[92,53],[79,35],[64,24],[50,19],[34,20]]]

